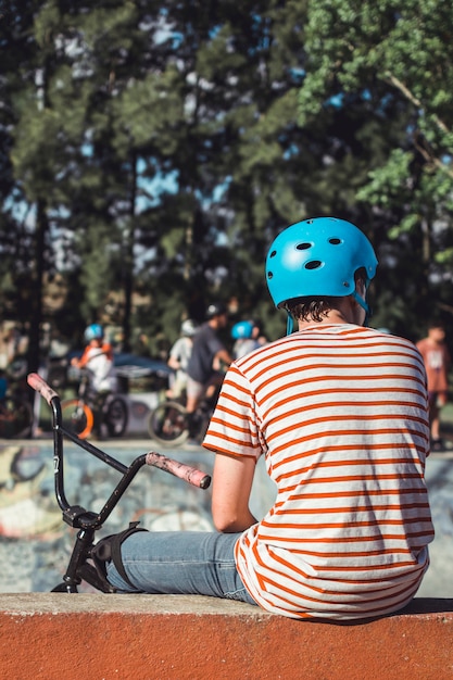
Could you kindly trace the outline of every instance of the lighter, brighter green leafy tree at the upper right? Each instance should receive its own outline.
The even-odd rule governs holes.
[[[374,103],[383,125],[352,203],[366,209],[376,236],[383,237],[386,284],[393,285],[394,256],[400,269],[406,257],[420,263],[400,277],[399,291],[394,282],[407,318],[436,314],[437,303],[444,310],[442,299],[451,298],[452,21],[451,3],[432,0],[309,3],[299,122],[305,127],[326,111]],[[369,139],[365,143],[370,149]],[[378,307],[385,300],[382,292]]]

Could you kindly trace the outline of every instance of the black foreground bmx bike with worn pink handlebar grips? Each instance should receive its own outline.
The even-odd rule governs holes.
[[[158,467],[200,489],[209,488],[211,477],[194,467],[168,458],[155,451],[149,451],[139,455],[129,466],[124,465],[121,461],[98,449],[89,441],[80,439],[80,437],[64,426],[60,398],[38,374],[29,374],[27,382],[51,407],[56,502],[62,511],[63,520],[70,527],[78,529],[63,581],[53,588],[52,592],[77,593],[78,587],[84,581],[100,592],[114,593],[116,589],[108,582],[106,578],[96,567],[95,553],[97,543],[95,543],[95,536],[96,531],[101,529],[110,517],[140,468],[144,465]],[[72,505],[67,501],[64,488],[64,438],[67,438],[122,475],[110,498],[98,513],[86,509],[80,505]]]

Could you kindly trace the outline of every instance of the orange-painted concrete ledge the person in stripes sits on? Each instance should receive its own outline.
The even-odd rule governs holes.
[[[0,594],[9,680],[443,680],[453,600],[355,625],[183,595]]]

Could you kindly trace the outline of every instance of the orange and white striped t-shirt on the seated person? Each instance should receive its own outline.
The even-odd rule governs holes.
[[[257,604],[294,618],[395,612],[433,539],[426,374],[415,345],[311,326],[232,364],[204,446],[265,455],[273,508],[236,544]]]

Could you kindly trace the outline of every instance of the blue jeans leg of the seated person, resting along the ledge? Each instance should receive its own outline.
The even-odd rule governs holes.
[[[246,590],[234,556],[239,533],[139,531],[122,544],[124,581],[113,562],[108,579],[122,592],[212,595],[256,604]]]

